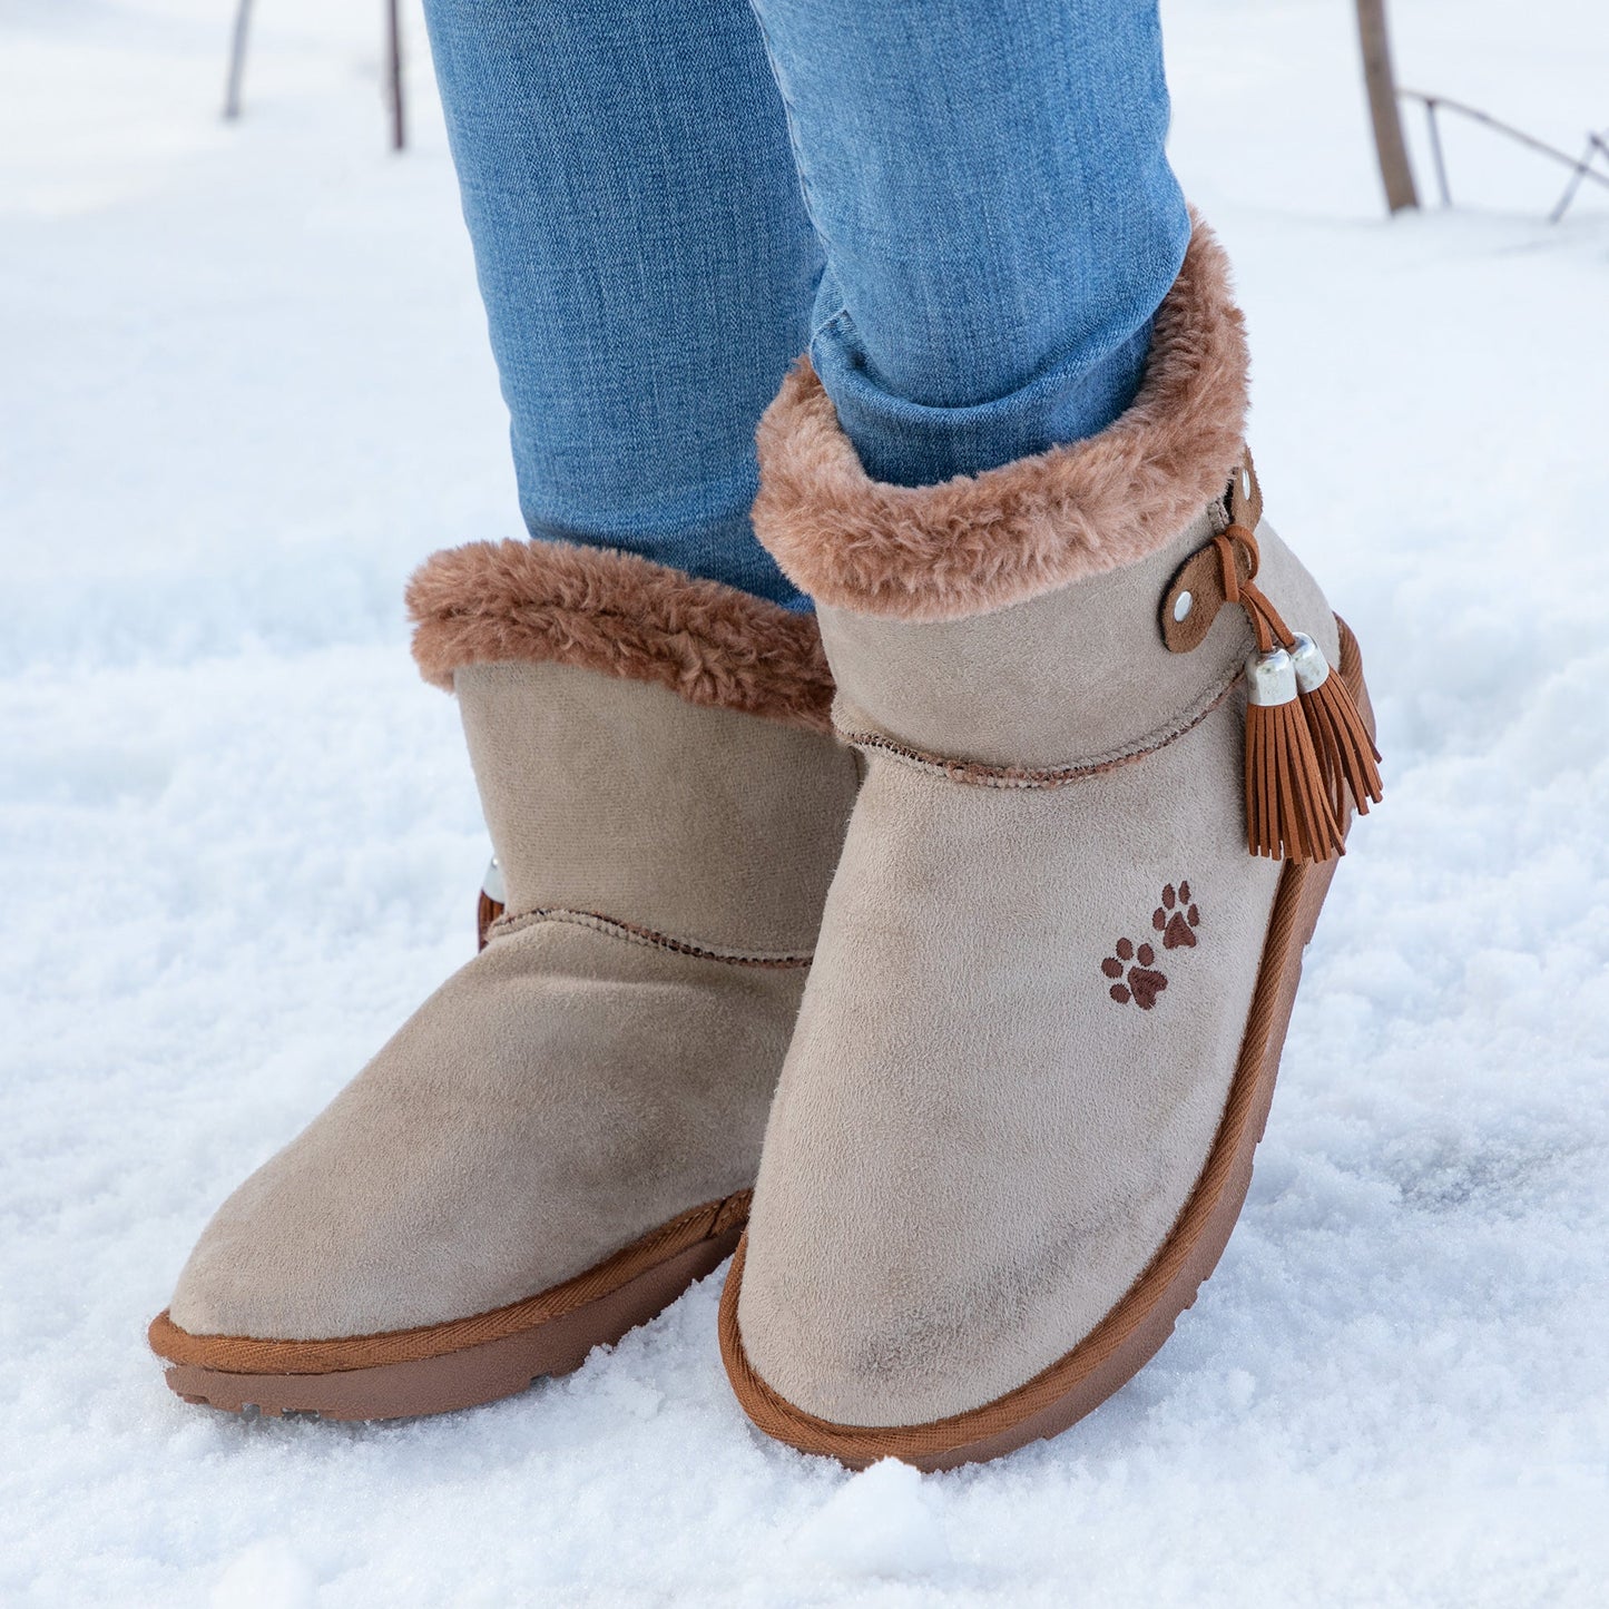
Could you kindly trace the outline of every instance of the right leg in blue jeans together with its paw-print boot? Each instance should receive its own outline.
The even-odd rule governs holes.
[[[767,1434],[944,1469],[1195,1300],[1381,777],[1356,640],[1261,523],[1152,6],[755,3],[829,264],[755,529],[861,785],[721,1350]]]

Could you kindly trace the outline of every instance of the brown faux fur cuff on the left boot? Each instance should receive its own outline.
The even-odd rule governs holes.
[[[632,553],[470,542],[415,571],[407,610],[414,658],[447,690],[460,665],[555,661],[832,730],[832,673],[813,615]]]

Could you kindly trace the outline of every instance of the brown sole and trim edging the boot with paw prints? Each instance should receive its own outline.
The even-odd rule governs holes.
[[[1374,716],[1358,642],[1339,616],[1337,624],[1339,674],[1372,734]],[[1287,864],[1281,874],[1236,1075],[1207,1165],[1146,1271],[1072,1352],[1004,1397],[946,1419],[912,1426],[848,1426],[819,1419],[772,1390],[743,1350],[737,1302],[748,1244],[745,1231],[721,1292],[719,1329],[721,1358],[748,1418],[766,1435],[804,1453],[835,1458],[851,1469],[864,1469],[879,1458],[898,1458],[917,1469],[954,1469],[1059,1435],[1126,1385],[1173,1334],[1178,1316],[1195,1302],[1245,1205],[1252,1158],[1268,1123],[1279,1052],[1302,980],[1302,951],[1318,925],[1335,866],[1335,861]]]

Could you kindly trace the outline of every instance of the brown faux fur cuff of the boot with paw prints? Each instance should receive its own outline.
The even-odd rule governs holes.
[[[808,359],[759,422],[755,529],[817,602],[961,619],[1155,552],[1221,496],[1245,431],[1247,351],[1229,264],[1200,219],[1113,425],[941,486],[870,479]]]

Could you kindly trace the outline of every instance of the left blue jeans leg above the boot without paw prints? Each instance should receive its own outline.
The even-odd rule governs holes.
[[[755,422],[819,253],[743,0],[425,0],[534,537],[788,607]]]

